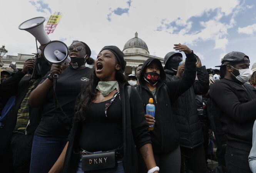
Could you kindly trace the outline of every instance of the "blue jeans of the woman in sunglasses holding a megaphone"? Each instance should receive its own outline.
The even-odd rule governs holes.
[[[34,135],[30,173],[47,173],[59,158],[67,138]]]

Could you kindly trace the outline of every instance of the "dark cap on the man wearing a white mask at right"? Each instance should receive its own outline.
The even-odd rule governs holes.
[[[248,58],[248,60],[244,60],[244,57]],[[221,67],[223,65],[235,65],[241,63],[250,63],[249,57],[242,52],[230,52],[224,56],[223,60],[221,61],[221,65],[215,67]]]

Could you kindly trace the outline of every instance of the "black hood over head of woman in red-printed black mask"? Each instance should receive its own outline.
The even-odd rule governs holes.
[[[159,84],[163,84],[166,80],[166,74],[164,72],[164,68],[162,66],[162,63],[159,59],[157,58],[148,58],[142,65],[141,67],[141,72],[140,72],[140,75],[139,75],[139,83],[141,86],[144,86],[145,87],[145,83],[146,81],[144,80],[144,75],[145,75],[145,72],[146,72],[146,68],[147,66],[149,66],[150,63],[152,62],[155,62],[159,65],[159,70],[160,70],[160,77],[161,77],[161,80],[156,84],[157,86]]]

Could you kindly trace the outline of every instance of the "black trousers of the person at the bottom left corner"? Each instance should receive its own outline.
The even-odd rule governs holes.
[[[4,173],[28,173],[31,148],[32,134],[12,133],[10,145],[5,150],[1,159],[0,172]]]

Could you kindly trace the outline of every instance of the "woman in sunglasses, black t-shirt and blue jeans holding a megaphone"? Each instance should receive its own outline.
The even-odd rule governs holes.
[[[71,63],[53,64],[29,97],[30,106],[43,106],[42,120],[33,136],[30,173],[48,172],[58,159],[67,143],[75,100],[82,85],[89,81],[91,69],[85,67],[85,62],[90,57],[90,48],[80,41],[74,41],[68,48]],[[54,74],[59,76],[55,91]]]

